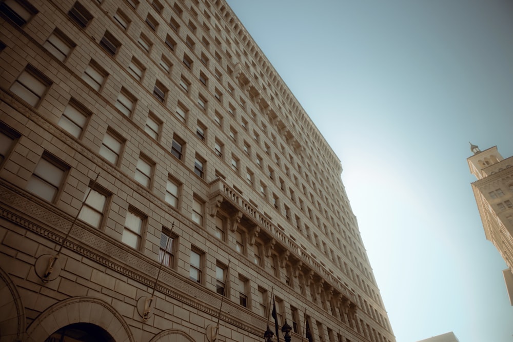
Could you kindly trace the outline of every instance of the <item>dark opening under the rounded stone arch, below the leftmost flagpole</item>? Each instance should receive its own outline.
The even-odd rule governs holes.
[[[73,323],[48,336],[45,342],[115,342],[103,328],[91,323]]]

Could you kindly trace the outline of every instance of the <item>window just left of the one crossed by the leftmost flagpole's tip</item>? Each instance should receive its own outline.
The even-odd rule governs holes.
[[[53,202],[64,182],[69,167],[44,152],[27,183],[27,190]]]

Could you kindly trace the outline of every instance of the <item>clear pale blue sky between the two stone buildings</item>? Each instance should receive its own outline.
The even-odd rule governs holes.
[[[228,0],[337,153],[398,342],[513,342],[468,142],[513,155],[513,2]]]

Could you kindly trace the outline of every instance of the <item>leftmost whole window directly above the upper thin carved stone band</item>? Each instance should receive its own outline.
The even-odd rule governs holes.
[[[35,107],[51,84],[51,81],[40,71],[31,65],[27,65],[12,84],[10,91]]]

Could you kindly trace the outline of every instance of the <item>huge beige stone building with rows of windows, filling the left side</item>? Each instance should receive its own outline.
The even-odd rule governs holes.
[[[2,341],[262,341],[271,294],[293,341],[394,341],[340,160],[223,0],[0,13]]]

